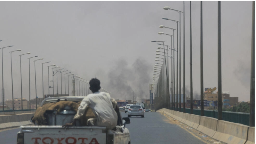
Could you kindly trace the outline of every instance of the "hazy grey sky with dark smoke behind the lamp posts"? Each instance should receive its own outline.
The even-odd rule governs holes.
[[[203,2],[204,87],[218,87],[217,4],[217,1]],[[156,49],[158,45],[151,41],[166,41],[165,44],[170,45],[170,37],[158,35],[158,32],[172,34],[172,31],[159,28],[159,25],[176,29],[175,22],[162,18],[179,20],[177,12],[166,11],[163,9],[164,6],[183,11],[183,1],[1,1],[0,40],[3,41],[0,42],[0,47],[14,45],[3,50],[5,99],[12,98],[9,52],[16,49],[22,51],[12,54],[14,97],[21,97],[18,55],[31,52],[30,55],[21,57],[23,97],[27,99],[29,96],[27,58],[35,55],[39,55],[37,58],[44,58],[36,61],[38,97],[42,97],[41,63],[51,61],[49,64],[44,64],[44,94],[48,94],[47,66],[56,64],[87,80],[97,76],[101,81],[101,87],[112,92],[112,96],[116,99],[125,97],[132,100],[131,88],[136,89],[140,98],[149,99],[149,84],[152,83],[156,50],[158,50]],[[181,28],[183,49],[183,15]],[[239,97],[239,101],[249,101],[252,2],[221,2],[221,30],[222,91],[230,92],[231,97]],[[185,70],[188,91],[190,88],[189,34],[189,1],[185,1]],[[193,92],[199,94],[200,1],[192,1],[192,54]],[[183,51],[181,55],[183,65]],[[30,66],[31,98],[35,98],[33,60],[36,58],[31,59]],[[0,77],[2,82],[2,76]],[[51,77],[50,75],[50,81]],[[64,78],[62,82],[64,94]],[[2,83],[0,86],[2,88]],[[60,93],[60,77],[58,86]]]

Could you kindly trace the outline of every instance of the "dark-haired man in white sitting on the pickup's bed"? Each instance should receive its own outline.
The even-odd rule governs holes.
[[[75,124],[81,116],[84,115],[87,107],[92,108],[96,118],[88,119],[89,125],[106,126],[107,128],[114,128],[117,125],[116,100],[111,98],[109,93],[99,92],[100,80],[92,78],[89,82],[92,94],[87,95],[78,107],[77,113],[74,117],[74,122],[65,124],[63,126],[71,126]]]

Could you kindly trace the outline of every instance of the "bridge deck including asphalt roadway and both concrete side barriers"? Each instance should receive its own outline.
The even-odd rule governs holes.
[[[31,125],[33,111],[0,116],[1,143],[16,143],[20,125]],[[16,112],[17,113],[17,112]],[[122,117],[127,113],[121,112]],[[132,144],[254,144],[254,127],[162,108],[131,117],[127,124]]]

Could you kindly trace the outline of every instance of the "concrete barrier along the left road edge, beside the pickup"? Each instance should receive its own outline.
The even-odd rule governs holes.
[[[1,115],[0,129],[19,127],[20,125],[30,125],[31,117],[34,113],[15,114],[15,115]]]

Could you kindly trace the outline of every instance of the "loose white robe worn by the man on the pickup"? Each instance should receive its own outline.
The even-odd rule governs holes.
[[[97,126],[116,127],[117,114],[114,109],[116,104],[116,100],[111,98],[109,93],[94,92],[82,100],[74,119],[83,116],[86,107],[89,106],[97,117]]]

